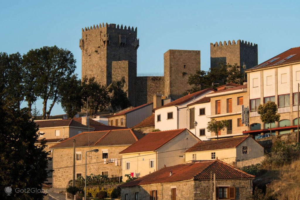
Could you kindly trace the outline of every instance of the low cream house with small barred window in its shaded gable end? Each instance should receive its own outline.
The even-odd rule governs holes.
[[[250,136],[201,141],[184,153],[185,162],[190,160],[215,160],[236,166],[241,160],[250,160],[264,155],[264,148]]]

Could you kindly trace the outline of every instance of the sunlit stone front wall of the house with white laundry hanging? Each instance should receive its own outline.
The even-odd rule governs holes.
[[[129,146],[129,145],[128,145]],[[85,176],[85,151],[92,149],[98,149],[97,153],[89,152],[87,157],[87,163],[94,163],[87,165],[87,175],[94,174],[99,175],[103,171],[108,171],[109,176],[122,176],[121,162],[118,160],[118,165],[115,162],[104,164],[102,159],[102,150],[108,150],[108,159],[121,159],[119,154],[122,150],[128,146],[116,146],[116,147],[76,147],[76,153],[82,153],[81,160],[76,160],[75,163],[75,178],[76,174],[80,173]],[[66,188],[70,180],[73,179],[73,148],[53,149],[53,187],[54,188]]]

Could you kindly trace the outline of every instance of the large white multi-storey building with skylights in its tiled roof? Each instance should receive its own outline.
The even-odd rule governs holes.
[[[244,133],[258,137],[270,133],[270,127],[274,131],[273,135],[290,133],[297,129],[300,47],[288,49],[246,72],[250,130]],[[260,120],[257,107],[267,101],[277,104],[280,121],[264,124]]]

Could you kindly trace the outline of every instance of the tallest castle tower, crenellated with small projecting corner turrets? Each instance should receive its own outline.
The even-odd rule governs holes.
[[[127,71],[137,71],[137,28],[102,23],[82,28],[81,77],[95,77],[102,85],[112,82],[112,62],[129,61]],[[121,77],[122,78],[122,77]]]

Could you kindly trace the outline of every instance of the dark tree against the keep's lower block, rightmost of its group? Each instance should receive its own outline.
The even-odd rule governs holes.
[[[119,81],[113,81],[108,86],[108,92],[110,93],[110,105],[113,112],[117,110],[122,110],[130,106],[126,92],[124,91],[125,78],[122,77]]]

